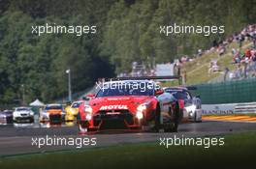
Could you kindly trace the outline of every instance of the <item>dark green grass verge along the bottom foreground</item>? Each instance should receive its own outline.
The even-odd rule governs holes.
[[[0,168],[159,168],[248,166],[255,158],[256,132],[225,136],[225,145],[172,146],[159,143],[0,158]],[[254,162],[254,161],[252,161]]]

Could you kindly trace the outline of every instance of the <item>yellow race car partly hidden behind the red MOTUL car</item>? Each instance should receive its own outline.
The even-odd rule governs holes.
[[[67,106],[65,108],[66,115],[65,115],[65,121],[75,121],[77,119],[80,104],[82,103],[82,100],[74,101],[70,106]]]

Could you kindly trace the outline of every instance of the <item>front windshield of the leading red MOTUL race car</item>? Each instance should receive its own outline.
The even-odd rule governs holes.
[[[104,86],[96,95],[101,97],[116,96],[153,96],[154,84],[152,82],[125,82],[112,83]]]

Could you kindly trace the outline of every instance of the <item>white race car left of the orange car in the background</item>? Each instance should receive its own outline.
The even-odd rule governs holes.
[[[13,121],[18,122],[34,122],[34,112],[30,107],[16,107],[13,113]]]

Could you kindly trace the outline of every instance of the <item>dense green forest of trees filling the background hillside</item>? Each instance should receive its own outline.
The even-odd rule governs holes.
[[[0,0],[0,104],[67,96],[134,61],[172,62],[255,22],[256,0]],[[224,34],[165,37],[160,25],[224,25]],[[44,23],[96,25],[96,35],[31,34]]]

